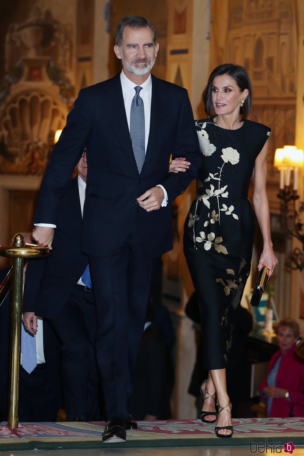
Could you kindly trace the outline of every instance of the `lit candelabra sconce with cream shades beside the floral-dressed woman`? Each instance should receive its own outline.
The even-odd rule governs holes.
[[[299,219],[295,208],[298,195],[298,171],[304,168],[304,151],[293,145],[285,145],[277,149],[274,155],[274,166],[280,171],[280,199],[281,225],[286,234],[294,236],[303,244],[302,250],[296,247],[286,259],[285,265],[289,269],[304,269],[304,224]],[[293,190],[290,190],[291,173],[294,173]],[[289,202],[292,201],[292,210]],[[301,202],[299,212],[304,212],[304,202]]]

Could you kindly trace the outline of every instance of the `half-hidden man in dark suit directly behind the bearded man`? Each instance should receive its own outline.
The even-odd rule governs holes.
[[[28,273],[41,282],[38,295],[26,290],[23,321],[32,334],[36,316],[47,319],[62,343],[62,384],[67,421],[98,418],[98,373],[94,352],[96,308],[93,291],[82,282],[88,256],[81,251],[82,209],[85,199],[87,159],[77,163],[78,176],[60,199],[53,249],[44,260],[32,261]],[[27,291],[27,292],[26,292]],[[33,308],[33,304],[36,305]],[[35,314],[33,310],[35,309]]]

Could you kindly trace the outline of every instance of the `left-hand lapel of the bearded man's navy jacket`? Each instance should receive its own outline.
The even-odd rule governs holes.
[[[109,84],[107,90],[104,91],[103,102],[108,120],[111,123],[113,130],[116,132],[117,138],[119,139],[122,148],[129,155],[130,160],[138,172],[132,149],[132,141],[129,132],[126,110],[124,107],[124,97],[120,83],[120,73],[112,78],[111,84]]]

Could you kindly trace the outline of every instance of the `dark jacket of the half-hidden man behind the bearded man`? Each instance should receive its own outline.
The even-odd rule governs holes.
[[[88,257],[81,252],[82,214],[77,177],[69,181],[66,194],[59,200],[56,223],[49,256],[32,261],[26,271],[41,285],[40,289],[28,289],[26,281],[23,311],[35,310],[36,315],[46,318],[62,310],[88,264]]]

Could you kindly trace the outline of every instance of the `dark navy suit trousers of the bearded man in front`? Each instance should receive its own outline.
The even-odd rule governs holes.
[[[153,259],[139,231],[139,210],[115,254],[89,257],[97,307],[96,357],[108,420],[126,418],[144,329]]]

